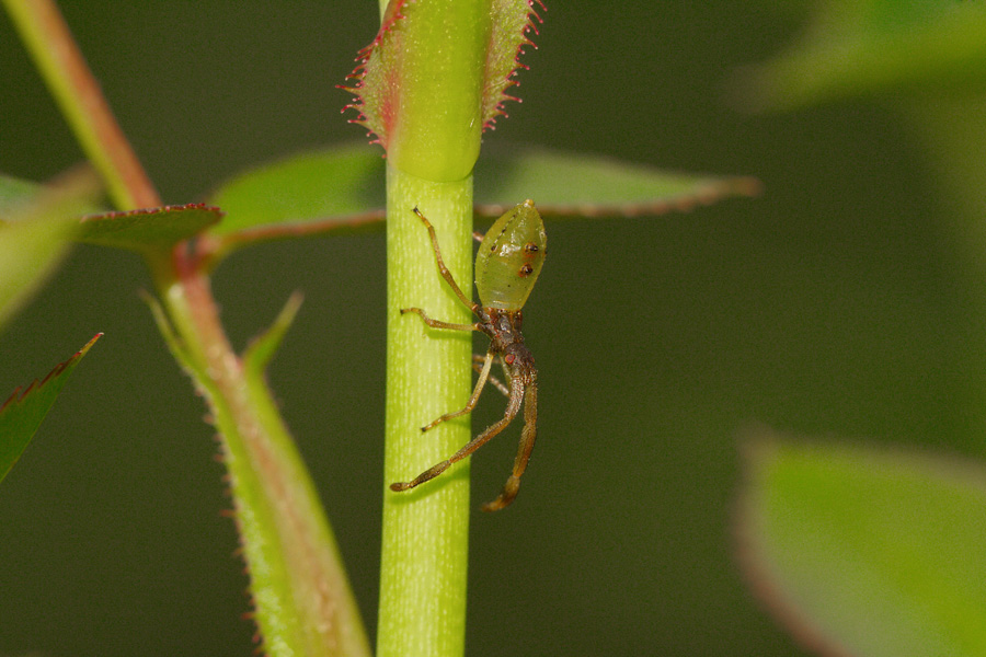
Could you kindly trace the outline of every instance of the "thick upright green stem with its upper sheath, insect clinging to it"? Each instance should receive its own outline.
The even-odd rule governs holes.
[[[443,258],[472,297],[472,166],[483,123],[489,0],[409,2],[367,62],[360,95],[387,148],[387,418],[385,485],[408,482],[471,437],[463,407],[471,333],[431,328],[402,308],[450,323],[471,313],[435,264],[417,207]],[[468,464],[416,488],[385,488],[377,657],[460,657],[466,636]]]

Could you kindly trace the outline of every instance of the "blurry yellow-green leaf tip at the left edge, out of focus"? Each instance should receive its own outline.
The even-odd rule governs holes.
[[[0,326],[41,287],[79,233],[99,182],[81,172],[50,186],[0,177]]]

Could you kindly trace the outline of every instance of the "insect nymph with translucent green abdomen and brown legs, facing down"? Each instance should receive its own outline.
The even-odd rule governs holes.
[[[493,223],[493,227],[482,238],[479,254],[475,257],[475,288],[482,303],[473,303],[462,293],[448,267],[445,266],[434,227],[417,208],[414,208],[414,214],[421,218],[428,230],[439,274],[462,303],[479,318],[479,321],[474,324],[451,324],[431,319],[420,308],[402,308],[401,314],[413,312],[433,328],[481,331],[490,336],[490,349],[486,355],[477,354],[473,357],[473,368],[479,372],[479,380],[475,382],[475,389],[466,407],[454,413],[446,413],[422,427],[421,430],[427,431],[447,419],[471,413],[488,381],[492,381],[507,396],[508,401],[500,422],[488,427],[485,431],[470,440],[445,461],[425,470],[410,482],[390,484],[390,489],[409,491],[435,479],[449,465],[461,461],[503,431],[517,416],[523,405],[524,429],[520,431],[520,447],[514,461],[514,471],[507,479],[500,496],[482,506],[484,511],[498,511],[514,502],[517,496],[517,491],[520,488],[520,476],[527,469],[538,433],[538,370],[535,367],[534,355],[524,344],[524,336],[520,334],[520,309],[524,308],[524,303],[538,279],[538,274],[541,273],[541,265],[544,264],[548,245],[544,223],[530,199],[506,211]],[[479,239],[477,235],[477,240]],[[503,370],[509,379],[509,387],[490,376],[493,358],[496,356],[500,357]]]

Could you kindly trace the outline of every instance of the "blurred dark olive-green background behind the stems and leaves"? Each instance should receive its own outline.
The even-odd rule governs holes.
[[[167,203],[363,137],[334,85],[374,36],[375,2],[62,4]],[[549,224],[525,323],[540,441],[517,504],[473,518],[469,655],[802,655],[734,564],[737,430],[963,450],[982,426],[965,284],[920,141],[879,104],[749,116],[727,102],[735,69],[795,38],[806,10],[549,4],[524,103],[488,143],[752,174],[766,194]],[[81,160],[5,15],[0,71],[0,171],[45,180]],[[382,233],[313,239],[248,250],[215,280],[240,347],[306,293],[271,383],[371,633],[383,266]],[[213,430],[137,295],[149,287],[138,257],[78,247],[0,335],[5,396],[106,334],[0,487],[0,654],[253,649]],[[493,395],[474,426],[500,413]],[[477,506],[515,448],[508,431],[473,460]]]

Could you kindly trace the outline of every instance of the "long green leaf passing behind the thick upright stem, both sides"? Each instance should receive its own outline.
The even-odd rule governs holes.
[[[307,234],[382,229],[383,160],[364,145],[296,155],[242,174],[209,203],[226,212],[209,229],[217,250]],[[668,173],[604,158],[512,149],[475,169],[477,212],[495,218],[525,198],[548,216],[662,215],[730,196],[753,196],[749,177]]]

